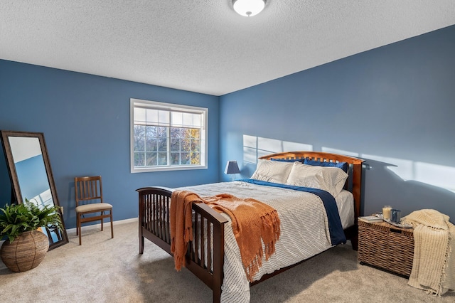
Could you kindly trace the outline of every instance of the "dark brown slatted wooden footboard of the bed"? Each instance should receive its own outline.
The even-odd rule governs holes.
[[[139,254],[144,238],[171,253],[171,195],[173,189],[145,187],[139,192]],[[203,203],[193,203],[193,240],[186,252],[186,267],[213,290],[213,302],[220,302],[223,284],[225,232],[228,222]]]

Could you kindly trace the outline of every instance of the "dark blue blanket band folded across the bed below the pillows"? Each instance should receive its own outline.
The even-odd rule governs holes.
[[[292,189],[294,191],[306,191],[308,193],[314,193],[316,196],[321,198],[324,208],[326,208],[327,219],[328,219],[328,230],[330,233],[330,240],[332,245],[338,245],[340,243],[346,243],[346,236],[343,232],[343,225],[341,225],[340,214],[336,207],[336,201],[333,196],[327,191],[323,191],[317,188],[292,186],[287,184],[278,184],[266,181],[259,181],[256,179],[239,179],[236,181],[247,182],[251,184],[257,184],[262,186],[274,186],[280,188]]]

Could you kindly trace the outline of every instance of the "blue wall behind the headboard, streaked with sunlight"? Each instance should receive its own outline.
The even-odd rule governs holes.
[[[255,147],[293,142],[357,155],[369,165],[365,214],[390,204],[455,222],[454,54],[450,26],[223,95],[220,164],[237,159],[248,177]]]

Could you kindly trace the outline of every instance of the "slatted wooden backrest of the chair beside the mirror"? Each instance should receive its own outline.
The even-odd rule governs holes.
[[[87,203],[102,203],[101,176],[75,177],[76,206]]]

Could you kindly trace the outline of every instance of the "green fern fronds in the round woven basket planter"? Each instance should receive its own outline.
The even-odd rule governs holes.
[[[21,233],[40,227],[52,226],[63,230],[58,206],[39,207],[26,198],[25,203],[6,205],[0,211],[0,235],[8,236],[10,243]]]

